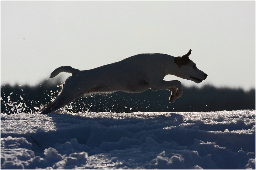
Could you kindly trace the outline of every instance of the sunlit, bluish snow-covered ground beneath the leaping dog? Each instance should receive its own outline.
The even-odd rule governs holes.
[[[1,114],[1,169],[255,169],[255,110]]]

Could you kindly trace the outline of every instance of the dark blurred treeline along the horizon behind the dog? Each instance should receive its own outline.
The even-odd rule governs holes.
[[[36,86],[2,85],[1,113],[34,113],[61,91],[60,81],[44,80]],[[201,88],[183,86],[184,92],[174,103],[169,103],[169,90],[141,93],[116,91],[94,93],[75,99],[65,107],[69,112],[199,112],[220,110],[255,109],[255,89]]]

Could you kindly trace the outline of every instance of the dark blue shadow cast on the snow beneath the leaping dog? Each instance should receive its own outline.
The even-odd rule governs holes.
[[[87,114],[87,113],[84,113]],[[90,114],[90,113],[88,113]],[[76,138],[78,143],[91,149],[99,147],[104,142],[118,142],[122,138],[139,139],[145,142],[147,137],[157,142],[166,140],[159,138],[159,131],[168,126],[178,126],[184,123],[183,116],[178,113],[167,115],[159,113],[128,113],[130,116],[109,116],[110,113],[93,113],[92,117],[84,117],[79,114],[51,113],[46,116],[52,118],[55,131],[38,131],[31,134],[40,146],[28,136],[27,140],[32,145],[32,150],[42,152],[45,148],[54,147],[56,143],[62,144]],[[105,116],[102,116],[105,114]],[[127,115],[127,114],[125,114]],[[163,132],[164,133],[164,132]]]

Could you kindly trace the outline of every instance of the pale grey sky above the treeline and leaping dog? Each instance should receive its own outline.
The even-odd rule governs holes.
[[[207,79],[164,80],[255,88],[255,1],[1,1],[1,85],[36,85],[60,66],[88,70],[189,49]]]

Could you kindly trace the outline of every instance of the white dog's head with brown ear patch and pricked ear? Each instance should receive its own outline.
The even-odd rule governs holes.
[[[191,49],[182,57],[175,57],[174,61],[177,64],[179,71],[175,74],[177,77],[191,80],[196,83],[201,83],[206,79],[207,74],[196,67],[196,64],[191,61],[188,56],[191,54]]]

